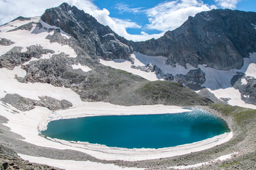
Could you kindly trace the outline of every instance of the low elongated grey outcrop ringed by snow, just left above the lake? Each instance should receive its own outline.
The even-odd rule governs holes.
[[[6,94],[4,98],[1,98],[1,101],[11,104],[11,106],[20,111],[30,111],[35,106],[49,108],[51,111],[72,107],[72,103],[66,100],[59,101],[48,96],[40,96],[39,98],[40,101],[36,101],[30,98],[24,98],[18,94]]]

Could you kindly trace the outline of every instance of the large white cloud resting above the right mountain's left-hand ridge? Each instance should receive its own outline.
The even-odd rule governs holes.
[[[201,11],[209,11],[216,6],[204,4],[201,0],[167,1],[147,10],[149,18],[148,29],[174,30],[187,21],[188,16],[195,16]]]

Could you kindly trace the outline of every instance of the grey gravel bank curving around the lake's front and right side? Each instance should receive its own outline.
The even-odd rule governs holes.
[[[204,166],[195,167],[194,169],[255,169],[256,141],[255,123],[253,123],[255,117],[250,120],[245,120],[245,124],[241,125],[237,123],[237,120],[234,120],[232,116],[224,115],[221,113],[221,111],[216,111],[213,108],[206,106],[198,106],[197,108],[203,108],[204,110],[210,111],[211,113],[226,120],[230,126],[230,129],[233,131],[233,138],[223,145],[218,145],[202,152],[194,152],[177,157],[152,159],[138,162],[106,161],[96,159],[95,157],[91,157],[90,155],[82,152],[38,147],[27,142],[23,142],[21,141],[22,137],[20,135],[11,132],[9,128],[6,128],[6,126],[3,125],[7,122],[7,120],[3,116],[0,116],[0,145],[4,148],[12,149],[13,152],[28,154],[34,157],[48,157],[51,159],[76,161],[89,160],[91,162],[115,164],[118,166],[137,167],[143,169],[167,169],[171,166],[186,166],[199,164],[202,162],[211,162],[217,157],[238,152],[238,154],[233,154],[231,159],[227,159],[223,162],[218,161],[212,164],[206,164]],[[3,157],[9,157],[9,153],[0,154],[1,159],[3,159]]]

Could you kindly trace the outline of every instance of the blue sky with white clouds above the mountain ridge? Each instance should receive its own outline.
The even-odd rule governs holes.
[[[65,1],[94,16],[128,40],[159,38],[201,11],[255,11],[255,0],[0,0],[0,25],[18,16],[41,16]]]

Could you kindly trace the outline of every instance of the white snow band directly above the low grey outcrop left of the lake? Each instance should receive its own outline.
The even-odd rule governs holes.
[[[24,77],[26,76],[26,71],[21,69],[21,67],[15,67],[13,70],[6,68],[0,69],[0,98],[4,98],[7,93],[19,94],[34,100],[40,100],[38,96],[49,96],[60,101],[65,99],[70,101],[73,106],[79,106],[83,103],[79,95],[69,88],[55,87],[50,84],[42,83],[23,84],[15,79],[15,75]]]

